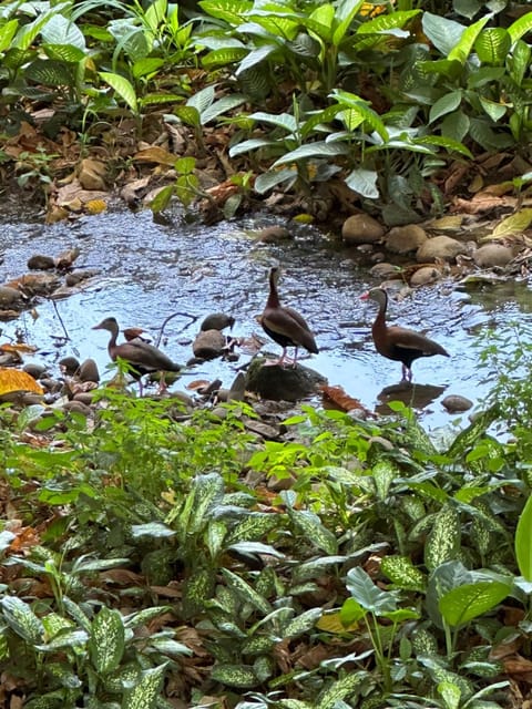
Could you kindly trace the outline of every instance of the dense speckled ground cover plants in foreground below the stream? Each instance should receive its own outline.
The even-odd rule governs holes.
[[[3,706],[524,700],[530,420],[512,392],[531,348],[515,357],[487,350],[491,400],[444,444],[399,404],[304,405],[266,442],[244,403],[183,418],[102,388],[94,420],[4,405]]]

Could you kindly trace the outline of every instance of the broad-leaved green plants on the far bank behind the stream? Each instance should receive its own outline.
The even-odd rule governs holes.
[[[155,210],[232,216],[280,191],[411,220],[442,208],[451,166],[528,157],[531,30],[525,4],[472,0],[3,0],[0,156],[49,195],[86,155],[111,181],[186,157]]]

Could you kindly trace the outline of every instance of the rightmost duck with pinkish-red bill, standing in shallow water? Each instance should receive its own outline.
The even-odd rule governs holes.
[[[386,309],[388,307],[388,294],[382,288],[372,288],[361,296],[362,300],[370,298],[379,304],[379,311],[371,327],[371,335],[377,351],[382,357],[402,363],[402,379],[412,381],[412,362],[419,357],[432,357],[443,354],[449,357],[449,352],[441,345],[429,340],[420,332],[415,332],[399,326],[386,325]]]

